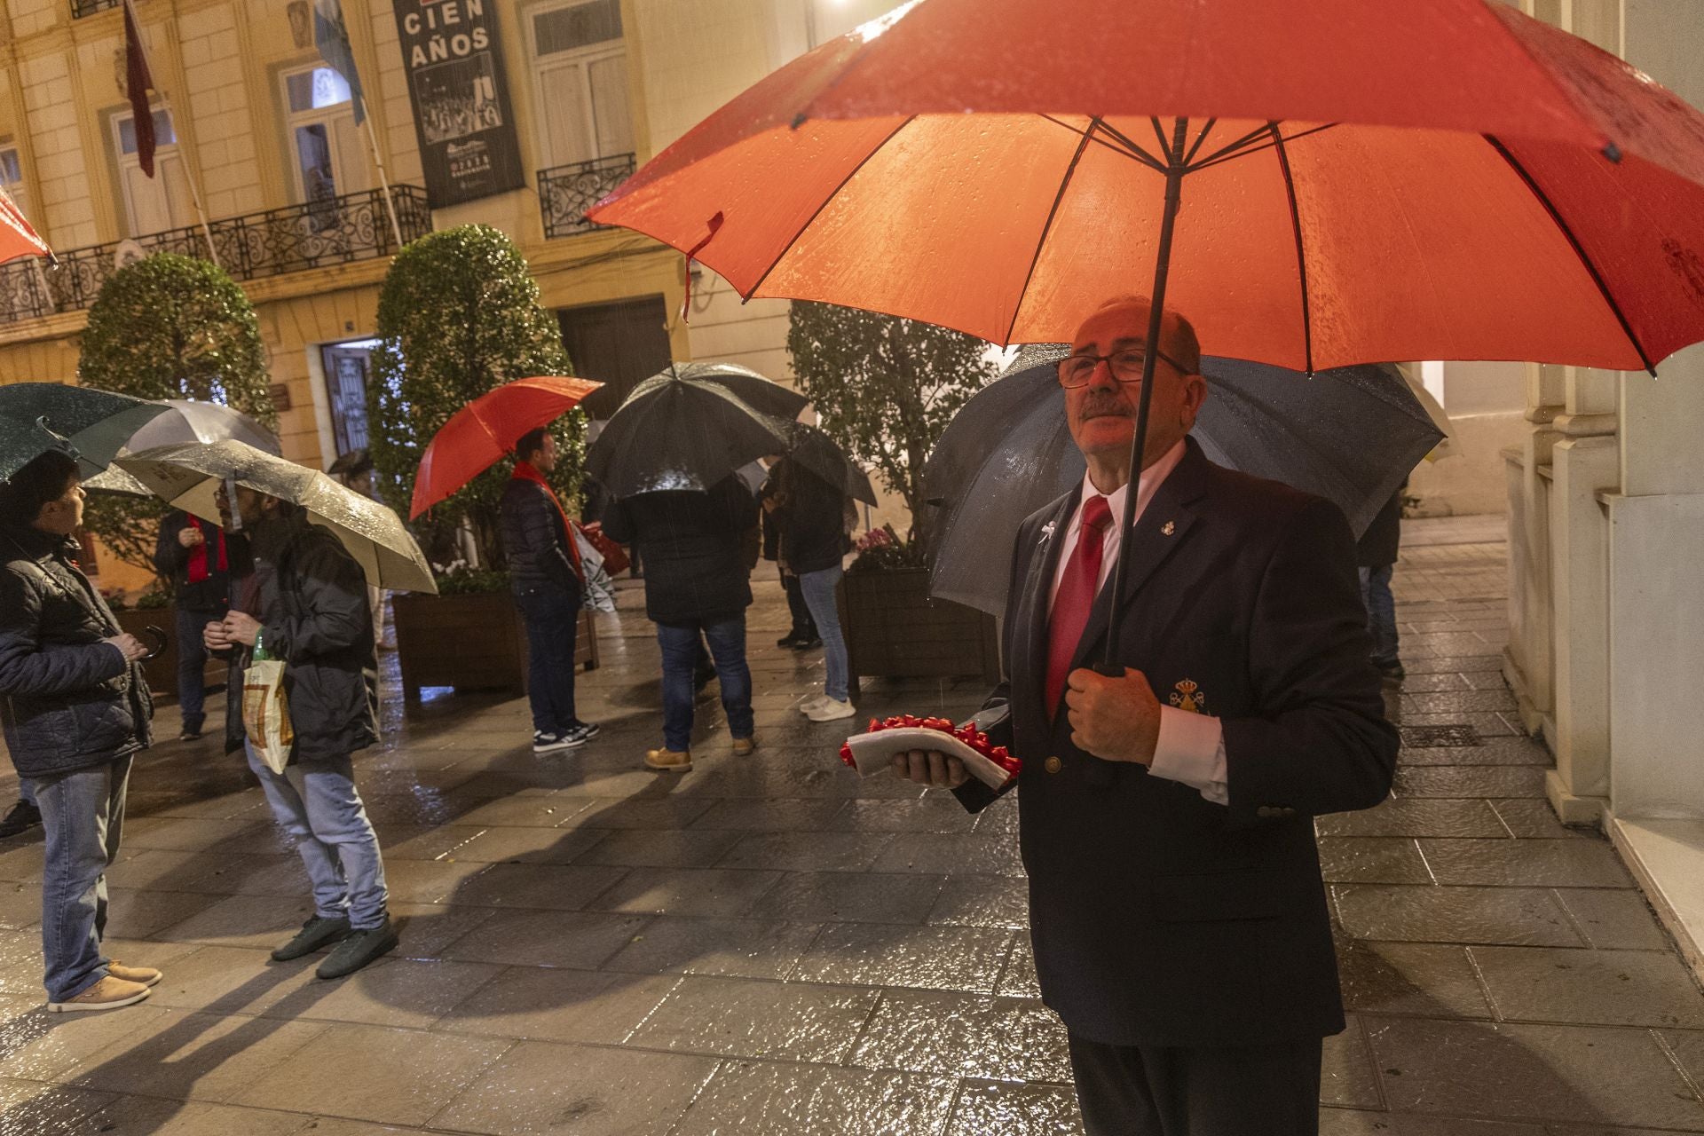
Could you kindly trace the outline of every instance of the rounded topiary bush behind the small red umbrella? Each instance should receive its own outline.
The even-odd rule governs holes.
[[[489,225],[429,233],[397,254],[378,295],[378,339],[366,388],[368,438],[380,492],[402,516],[414,499],[421,455],[450,416],[506,382],[573,373],[527,261]],[[552,433],[561,450],[552,484],[574,511],[584,416],[562,416]],[[465,521],[481,567],[503,565],[498,506],[509,467],[498,462],[414,523],[435,562],[457,559],[455,533]]]

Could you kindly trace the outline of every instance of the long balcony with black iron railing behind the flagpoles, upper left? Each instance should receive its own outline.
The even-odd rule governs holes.
[[[392,186],[397,227],[409,242],[431,232],[431,206],[419,186]],[[261,279],[285,273],[373,261],[397,250],[378,189],[293,204],[266,213],[245,213],[210,221],[220,266],[233,279]],[[208,235],[199,225],[138,237],[145,252],[208,255]],[[0,266],[0,324],[87,308],[101,284],[118,267],[118,242],[72,249],[49,264],[29,257]]]

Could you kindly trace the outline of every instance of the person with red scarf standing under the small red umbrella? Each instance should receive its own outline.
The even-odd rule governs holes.
[[[574,639],[584,596],[579,545],[545,477],[556,468],[556,438],[540,427],[515,445],[515,473],[503,491],[503,552],[509,589],[527,623],[527,698],[533,753],[584,746],[598,726],[574,712]]]

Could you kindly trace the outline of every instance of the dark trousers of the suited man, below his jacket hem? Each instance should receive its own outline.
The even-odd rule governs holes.
[[[1319,1136],[1319,1041],[1174,1049],[1070,1036],[1087,1136]]]

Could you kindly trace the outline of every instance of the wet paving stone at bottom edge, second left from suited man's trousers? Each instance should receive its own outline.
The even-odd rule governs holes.
[[[673,1136],[898,1136],[939,1133],[956,1081],[821,1064],[728,1061]]]

